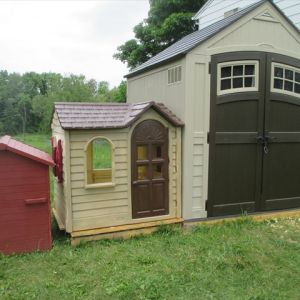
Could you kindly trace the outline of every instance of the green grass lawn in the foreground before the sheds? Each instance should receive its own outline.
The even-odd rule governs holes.
[[[0,256],[0,299],[300,299],[300,218],[199,225]]]

